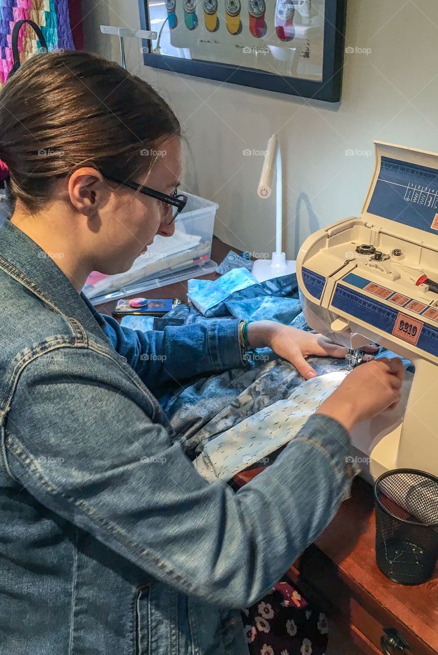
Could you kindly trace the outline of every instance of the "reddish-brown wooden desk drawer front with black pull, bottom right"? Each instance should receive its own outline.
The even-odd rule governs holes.
[[[316,546],[300,557],[290,575],[309,600],[315,602],[348,633],[366,655],[384,652],[380,645],[384,628],[395,628],[410,646],[410,650],[389,648],[390,653],[403,655],[437,655],[421,637],[412,633],[391,608],[382,607],[369,593],[357,593],[340,579],[338,567]]]

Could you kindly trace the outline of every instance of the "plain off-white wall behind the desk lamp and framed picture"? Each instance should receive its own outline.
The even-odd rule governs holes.
[[[120,62],[117,37],[100,24],[138,28],[136,0],[83,0],[85,45]],[[309,233],[359,215],[374,168],[374,139],[438,151],[438,3],[348,0],[340,105],[145,67],[140,41],[125,39],[131,72],[169,100],[189,140],[184,186],[220,205],[215,233],[237,248],[271,252],[275,194],[256,196],[264,150],[279,132],[285,181],[285,242],[294,257]],[[346,151],[368,151],[346,155]],[[372,154],[371,154],[372,153]]]

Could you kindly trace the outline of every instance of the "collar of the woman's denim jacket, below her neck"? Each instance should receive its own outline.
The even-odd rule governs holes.
[[[73,316],[86,330],[111,345],[102,329],[102,318],[85,294],[78,293],[53,259],[8,219],[0,229],[0,268],[35,293],[49,309]]]

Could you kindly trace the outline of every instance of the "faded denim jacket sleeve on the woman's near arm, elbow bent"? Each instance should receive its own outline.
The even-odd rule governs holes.
[[[33,358],[6,424],[10,476],[153,578],[215,605],[248,607],[349,496],[348,432],[313,415],[235,493],[197,474],[148,417],[149,392],[128,369],[99,348]]]

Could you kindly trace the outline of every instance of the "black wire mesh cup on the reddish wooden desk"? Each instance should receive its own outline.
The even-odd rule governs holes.
[[[376,479],[374,501],[379,569],[400,584],[430,580],[438,558],[438,477],[387,471]]]

